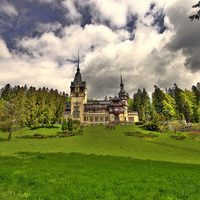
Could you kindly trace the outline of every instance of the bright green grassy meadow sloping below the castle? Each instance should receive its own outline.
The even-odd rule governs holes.
[[[0,132],[0,199],[200,199],[200,140],[126,136],[135,125],[84,127],[83,135],[19,139],[61,132]]]

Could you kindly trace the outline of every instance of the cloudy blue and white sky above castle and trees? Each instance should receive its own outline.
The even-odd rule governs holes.
[[[0,87],[70,93],[78,51],[88,98],[200,82],[197,0],[0,0]]]

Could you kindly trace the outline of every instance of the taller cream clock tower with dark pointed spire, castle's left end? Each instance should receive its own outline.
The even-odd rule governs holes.
[[[86,82],[82,81],[79,57],[77,72],[74,77],[74,81],[71,82],[71,116],[73,120],[79,120],[83,122],[84,104],[87,103],[87,88]]]

